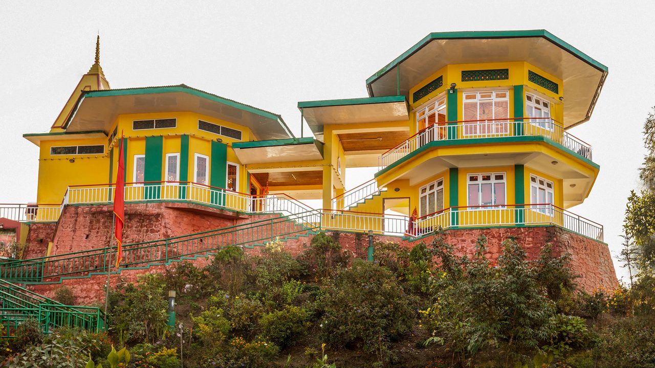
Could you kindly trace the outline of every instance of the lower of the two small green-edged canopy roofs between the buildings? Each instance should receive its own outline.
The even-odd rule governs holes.
[[[322,160],[323,143],[314,138],[273,139],[232,143],[242,164],[265,164],[302,160]]]

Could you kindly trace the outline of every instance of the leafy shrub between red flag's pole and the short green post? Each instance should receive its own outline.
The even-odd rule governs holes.
[[[125,285],[122,289],[123,294],[111,310],[111,320],[119,334],[135,342],[160,339],[168,329],[168,303],[162,276],[145,274],[139,278],[138,285]]]

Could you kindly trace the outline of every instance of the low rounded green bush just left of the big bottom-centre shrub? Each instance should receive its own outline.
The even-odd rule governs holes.
[[[305,322],[309,320],[309,313],[297,306],[286,306],[283,310],[276,310],[265,314],[259,320],[261,335],[265,339],[284,348],[291,339],[299,337],[305,332]]]

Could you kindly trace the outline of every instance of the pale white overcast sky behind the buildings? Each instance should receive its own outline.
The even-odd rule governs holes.
[[[297,101],[367,96],[365,79],[430,32],[543,28],[609,67],[591,120],[571,130],[601,165],[591,195],[571,210],[605,225],[616,257],[655,105],[654,5],[0,0],[0,203],[35,200],[38,149],[22,134],[50,128],[92,65],[98,31],[112,88],[184,83],[279,113],[299,132]],[[348,174],[348,187],[369,178]]]

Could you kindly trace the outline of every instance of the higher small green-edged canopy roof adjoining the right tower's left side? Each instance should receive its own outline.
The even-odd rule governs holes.
[[[301,101],[298,109],[316,138],[324,140],[325,125],[394,122],[409,120],[405,96],[351,98],[347,100]]]

